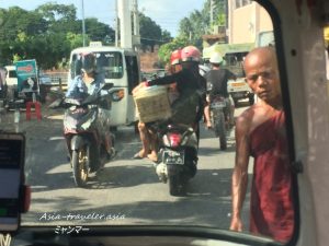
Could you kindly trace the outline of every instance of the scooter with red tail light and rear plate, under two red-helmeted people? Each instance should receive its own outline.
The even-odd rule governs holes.
[[[196,133],[191,126],[178,124],[163,124],[156,130],[159,140],[157,175],[162,183],[168,181],[171,196],[184,195],[188,180],[196,174]]]

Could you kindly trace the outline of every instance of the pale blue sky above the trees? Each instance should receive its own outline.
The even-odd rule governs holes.
[[[0,8],[18,5],[25,10],[34,10],[46,2],[58,4],[75,4],[78,17],[82,19],[82,0],[0,0]],[[172,36],[178,32],[178,23],[193,10],[201,10],[205,0],[138,0],[138,9],[151,17],[162,30]],[[114,27],[115,0],[83,0],[84,16],[97,17],[99,21]]]

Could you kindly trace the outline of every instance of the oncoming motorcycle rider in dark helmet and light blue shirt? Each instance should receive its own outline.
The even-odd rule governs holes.
[[[78,69],[78,71],[80,70],[81,74],[73,79],[66,93],[66,97],[77,97],[81,93],[93,95],[94,93],[98,93],[105,83],[104,74],[97,71],[97,59],[92,52],[81,54],[80,59],[77,60],[76,69]],[[100,128],[100,133],[104,138],[107,157],[110,159],[115,154],[115,150],[110,132],[109,109],[99,108],[100,113],[104,115],[104,117],[102,117],[104,122],[100,124],[98,127]]]

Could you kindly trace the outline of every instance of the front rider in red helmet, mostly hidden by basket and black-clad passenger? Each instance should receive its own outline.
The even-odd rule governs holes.
[[[169,72],[171,74],[179,72],[181,70],[181,50],[180,49],[172,51],[172,54],[170,56],[169,70],[170,70]],[[136,91],[138,89],[136,89]],[[169,86],[169,98],[170,98],[171,103],[175,101],[178,94],[179,93],[177,92],[175,83],[171,83]],[[157,153],[156,134],[147,127],[147,124],[140,122],[140,121],[138,122],[138,131],[139,131],[139,137],[140,137],[143,148],[140,151],[138,151],[134,155],[134,159],[148,157],[149,160],[157,162],[158,153]]]

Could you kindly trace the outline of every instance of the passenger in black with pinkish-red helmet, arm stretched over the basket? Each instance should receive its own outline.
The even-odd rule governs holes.
[[[190,124],[193,124],[197,139],[200,137],[198,121],[203,116],[206,91],[206,81],[198,72],[200,60],[200,50],[195,46],[186,46],[181,50],[181,71],[144,82],[144,86],[177,83],[179,98],[172,105],[174,115],[172,119],[177,118],[179,122],[180,120],[191,120],[192,118]],[[194,104],[197,106],[194,107]],[[193,105],[194,107],[188,112],[190,114],[189,117],[186,117],[186,112],[184,110],[188,105]]]

